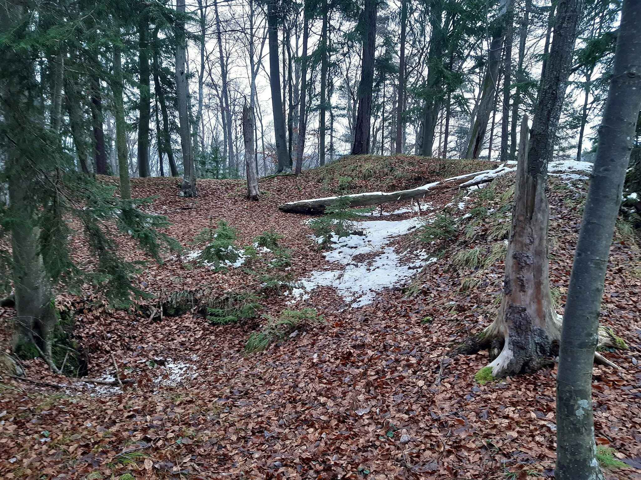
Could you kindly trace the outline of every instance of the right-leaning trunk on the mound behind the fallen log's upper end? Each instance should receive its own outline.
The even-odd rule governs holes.
[[[508,16],[507,13],[509,9],[510,0],[501,0],[499,4],[499,14],[494,20],[494,34],[492,35],[490,51],[488,52],[488,67],[487,72],[485,72],[485,79],[483,79],[481,101],[479,102],[478,113],[476,114],[474,127],[472,127],[472,136],[467,146],[465,158],[478,158],[483,148],[487,124],[492,113],[492,99],[494,99],[494,92],[498,86],[501,50],[503,47],[503,39],[505,38],[507,27],[506,17]]]

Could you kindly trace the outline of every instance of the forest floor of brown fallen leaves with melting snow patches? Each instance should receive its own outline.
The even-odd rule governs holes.
[[[490,324],[501,298],[513,174],[483,189],[426,198],[420,212],[408,202],[383,205],[362,232],[329,251],[313,244],[309,218],[278,211],[292,200],[412,188],[488,165],[347,157],[299,177],[262,180],[259,202],[244,198],[240,180],[199,180],[197,198],[180,198],[177,179],[133,179],[133,196],[154,197],[149,211],[169,216],[169,234],[187,251],[167,253],[162,265],[149,262],[138,282],[155,298],[137,308],[58,296],[58,308],[74,313],[70,335],[88,360],[88,377],[118,376],[124,386],[81,383],[51,374],[42,360],[22,360],[26,377],[58,388],[4,374],[0,476],[553,477],[556,367],[479,385],[474,374],[488,364],[488,351],[455,353]],[[559,313],[587,191],[585,173],[568,173],[573,166],[558,165],[549,180],[550,276]],[[442,215],[452,221],[453,238],[420,241],[422,222]],[[273,267],[270,278],[290,275],[302,285],[293,293],[265,289],[269,278],[249,263],[269,269],[269,252],[219,272],[192,260],[198,250],[190,242],[218,220],[238,228],[238,246],[276,230],[291,265]],[[140,257],[122,245],[129,258]],[[81,255],[81,239],[76,249]],[[620,369],[595,365],[593,383],[597,443],[613,449],[603,450],[614,454],[610,460],[629,466],[605,470],[609,479],[641,479],[633,468],[641,468],[640,260],[633,237],[619,228],[601,322],[628,348],[604,351]],[[230,291],[255,294],[262,317],[208,321],[203,301]],[[194,307],[187,312],[179,309],[185,299]],[[312,307],[322,319],[294,325],[265,351],[245,351],[253,332],[274,325],[269,317]],[[7,349],[13,310],[0,312]]]

